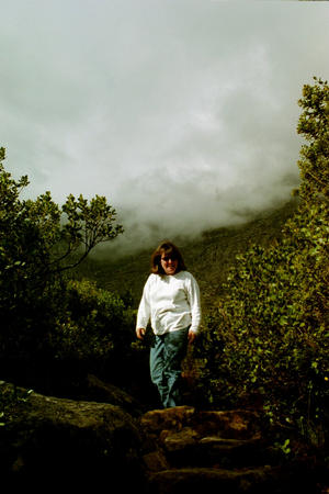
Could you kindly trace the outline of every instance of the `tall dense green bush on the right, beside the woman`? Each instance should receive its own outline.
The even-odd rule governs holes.
[[[272,422],[316,441],[329,400],[329,88],[316,79],[303,94],[299,207],[280,242],[238,256],[198,358],[208,403],[261,404]]]

